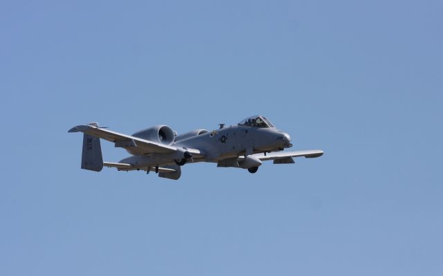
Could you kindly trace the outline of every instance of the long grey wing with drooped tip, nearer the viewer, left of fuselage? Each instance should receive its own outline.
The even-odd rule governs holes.
[[[94,137],[102,138],[110,142],[115,142],[116,147],[136,147],[141,151],[141,154],[154,153],[154,154],[173,154],[177,151],[176,147],[163,145],[150,140],[129,136],[126,134],[119,134],[115,131],[96,127],[94,125],[78,125],[69,129],[68,132],[83,132]]]

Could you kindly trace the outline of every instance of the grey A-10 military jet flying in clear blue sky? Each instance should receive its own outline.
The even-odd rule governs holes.
[[[143,170],[160,177],[179,179],[181,166],[187,163],[210,162],[217,167],[238,167],[257,172],[262,161],[274,164],[294,163],[293,157],[315,158],[321,150],[283,151],[292,147],[289,134],[274,127],[264,116],[251,116],[237,125],[219,125],[219,129],[196,129],[177,135],[167,125],[126,135],[99,127],[96,122],[78,125],[68,132],[83,132],[82,169],[100,172],[102,167],[119,171]],[[118,163],[103,162],[100,138],[114,142],[129,154]]]

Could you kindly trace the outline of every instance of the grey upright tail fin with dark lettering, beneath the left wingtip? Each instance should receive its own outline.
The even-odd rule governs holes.
[[[82,169],[100,172],[103,168],[102,147],[100,138],[83,135]]]

